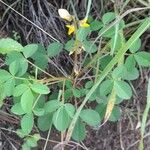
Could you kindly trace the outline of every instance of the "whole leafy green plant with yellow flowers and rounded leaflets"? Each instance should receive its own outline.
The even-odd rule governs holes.
[[[127,39],[125,21],[115,20],[119,14],[108,12],[101,20],[90,21],[89,8],[90,4],[83,20],[61,10],[67,15],[62,18],[68,21],[68,34],[73,34],[64,45],[53,42],[45,48],[41,44],[22,46],[10,38],[0,40],[0,53],[6,56],[6,66],[0,69],[0,104],[2,107],[3,100],[12,97],[10,111],[21,118],[17,134],[25,140],[23,149],[36,147],[39,130],[52,126],[61,132],[63,140],[68,142],[72,137],[82,141],[86,125],[117,121],[121,116],[119,104],[132,97],[129,83],[139,77],[139,66],[150,67],[150,53],[141,51],[140,39],[150,27],[150,17]],[[97,34],[103,37],[102,44],[91,40],[97,39]],[[74,59],[72,73],[51,75],[46,71],[49,58],[64,50]],[[79,59],[83,54],[86,57]],[[92,77],[83,78],[89,70]],[[58,90],[51,90],[53,84]],[[93,101],[95,108],[86,105]]]

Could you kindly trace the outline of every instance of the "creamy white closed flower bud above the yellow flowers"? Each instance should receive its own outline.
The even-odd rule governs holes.
[[[73,16],[71,16],[66,9],[58,9],[58,14],[62,19],[65,19],[69,22],[73,19]]]

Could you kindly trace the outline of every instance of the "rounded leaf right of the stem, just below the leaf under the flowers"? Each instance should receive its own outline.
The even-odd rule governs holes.
[[[97,46],[91,41],[84,41],[83,47],[87,53],[95,53],[97,51]]]

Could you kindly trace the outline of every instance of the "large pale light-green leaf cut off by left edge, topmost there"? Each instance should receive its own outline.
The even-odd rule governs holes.
[[[22,51],[23,47],[17,41],[11,38],[2,38],[0,39],[0,53],[7,54],[12,51]]]

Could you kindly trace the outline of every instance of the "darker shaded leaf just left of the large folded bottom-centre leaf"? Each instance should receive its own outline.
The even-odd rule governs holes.
[[[38,120],[37,120],[38,128],[41,131],[49,130],[49,128],[51,128],[52,126],[52,117],[53,117],[53,114],[47,114],[47,115],[38,117]]]

